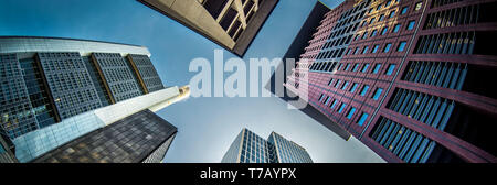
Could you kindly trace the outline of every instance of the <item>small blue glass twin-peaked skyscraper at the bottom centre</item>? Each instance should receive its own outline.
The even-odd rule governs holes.
[[[267,140],[244,128],[224,154],[222,163],[313,163],[306,149],[276,132]]]

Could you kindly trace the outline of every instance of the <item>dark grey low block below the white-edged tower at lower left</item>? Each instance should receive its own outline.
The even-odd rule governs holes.
[[[159,163],[177,128],[150,110],[82,135],[34,163]]]

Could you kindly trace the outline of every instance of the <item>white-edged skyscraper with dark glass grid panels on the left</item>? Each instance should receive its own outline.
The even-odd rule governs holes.
[[[188,87],[162,86],[149,56],[137,45],[0,37],[3,148],[29,162],[134,113],[188,97]]]

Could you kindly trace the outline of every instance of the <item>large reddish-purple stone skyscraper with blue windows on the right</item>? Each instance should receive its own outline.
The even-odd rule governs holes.
[[[308,44],[285,88],[308,89],[321,123],[388,162],[497,162],[497,94],[484,83],[496,74],[496,7],[346,0],[296,37]]]

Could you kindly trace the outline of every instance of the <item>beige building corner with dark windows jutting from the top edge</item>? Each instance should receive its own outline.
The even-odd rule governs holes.
[[[278,0],[138,0],[243,57]]]

